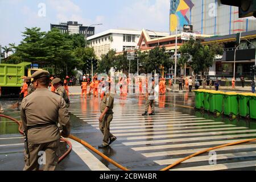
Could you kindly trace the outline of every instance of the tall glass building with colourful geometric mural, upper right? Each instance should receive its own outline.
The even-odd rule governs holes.
[[[218,0],[170,0],[170,32],[184,24],[207,35],[232,35],[256,30],[255,18],[238,18],[238,7],[222,5]]]

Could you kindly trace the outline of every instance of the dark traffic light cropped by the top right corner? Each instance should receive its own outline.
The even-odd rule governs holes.
[[[254,16],[256,18],[256,0],[220,0],[223,5],[239,7],[239,18]]]

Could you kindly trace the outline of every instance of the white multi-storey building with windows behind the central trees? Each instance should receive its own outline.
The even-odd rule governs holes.
[[[167,32],[152,32],[147,31],[150,38],[162,38],[168,36]],[[110,49],[116,52],[130,51],[137,48],[141,30],[126,30],[126,29],[110,29],[99,34],[90,36],[87,40],[90,47],[98,58],[105,55]]]

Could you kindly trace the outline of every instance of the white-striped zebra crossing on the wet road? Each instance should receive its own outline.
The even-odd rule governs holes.
[[[142,103],[115,103],[113,111],[110,130],[118,138],[117,141],[162,168],[210,147],[256,138],[256,130],[174,109],[156,107],[155,116],[143,117]],[[73,103],[69,112],[98,129],[99,104],[95,106],[90,101]],[[216,154],[215,158],[208,152],[170,170],[208,171],[256,167],[256,142],[219,148],[212,152]],[[213,165],[210,163],[212,159]]]

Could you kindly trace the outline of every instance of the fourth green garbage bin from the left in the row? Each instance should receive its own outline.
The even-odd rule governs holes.
[[[238,115],[238,97],[236,92],[226,92],[223,94],[224,114],[229,117]]]

